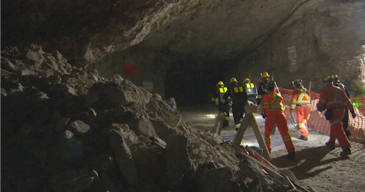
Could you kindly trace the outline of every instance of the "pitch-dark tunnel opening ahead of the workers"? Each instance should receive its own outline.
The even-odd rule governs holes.
[[[223,62],[208,62],[198,66],[195,61],[172,64],[165,76],[165,96],[174,97],[177,105],[210,103],[218,81],[226,83],[229,67]]]

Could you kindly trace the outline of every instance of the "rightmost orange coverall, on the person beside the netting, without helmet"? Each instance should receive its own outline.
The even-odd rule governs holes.
[[[318,111],[324,111],[326,108],[332,108],[333,118],[329,120],[330,139],[328,143],[334,145],[337,139],[342,149],[350,149],[351,145],[346,137],[345,131],[343,131],[342,128],[342,119],[345,115],[346,109],[345,105],[347,109],[354,111],[349,97],[346,96],[346,93],[342,89],[330,84],[322,89],[319,98],[320,99],[317,104]]]

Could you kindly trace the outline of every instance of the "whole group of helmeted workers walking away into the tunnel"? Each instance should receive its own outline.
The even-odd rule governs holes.
[[[271,135],[274,134],[277,126],[285,147],[287,148],[289,159],[295,156],[295,148],[288,133],[287,117],[285,115],[284,99],[281,96],[277,83],[269,79],[268,72],[262,72],[262,81],[259,82],[258,88],[255,84],[246,78],[240,84],[236,78],[232,77],[227,86],[223,81],[219,81],[213,93],[212,102],[217,106],[219,112],[225,112],[226,117],[223,120],[223,128],[229,126],[229,111],[232,110],[236,131],[241,126],[244,107],[247,101],[252,101],[259,107],[259,112],[265,119],[265,143],[269,152],[271,151]],[[311,97],[310,92],[304,88],[303,81],[298,79],[292,81],[294,87],[290,112],[296,110],[297,122],[301,136],[299,139],[308,140],[307,118],[310,112]],[[327,76],[323,80],[323,89],[320,93],[318,111],[324,111],[325,117],[330,121],[330,139],[326,146],[333,150],[335,140],[338,139],[342,150],[340,155],[351,154],[348,137],[351,135],[348,130],[348,111],[353,118],[356,117],[354,108],[350,103],[350,93],[343,85],[337,75]]]

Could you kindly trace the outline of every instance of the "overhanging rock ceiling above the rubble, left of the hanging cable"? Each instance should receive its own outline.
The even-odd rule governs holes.
[[[0,37],[7,41],[1,43],[57,49],[72,65],[91,64],[139,43],[184,58],[224,60],[246,50],[297,5],[295,0],[88,2],[4,2],[8,17],[1,20]]]

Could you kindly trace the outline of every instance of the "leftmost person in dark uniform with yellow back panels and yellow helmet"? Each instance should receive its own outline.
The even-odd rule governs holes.
[[[221,103],[219,102],[220,99],[222,99],[222,96],[224,93],[227,92],[227,87],[224,86],[223,81],[219,81],[216,85],[216,88],[213,92],[212,102],[216,105],[218,108],[218,112],[225,112],[227,115],[224,117],[222,127],[228,127],[229,126],[229,105],[228,102]]]

